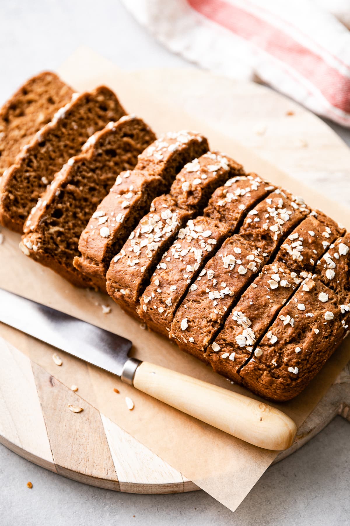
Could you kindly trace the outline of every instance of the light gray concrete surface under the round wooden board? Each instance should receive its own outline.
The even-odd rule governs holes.
[[[0,20],[0,102],[24,78],[55,69],[81,44],[126,69],[192,67],[154,42],[118,0],[0,0]],[[334,128],[350,145],[349,131]],[[0,446],[0,526],[350,524],[349,433],[337,417],[270,468],[234,514],[203,491],[133,495],[88,487]]]

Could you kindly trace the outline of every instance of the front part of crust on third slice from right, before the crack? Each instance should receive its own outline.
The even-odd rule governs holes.
[[[179,347],[204,359],[230,308],[260,269],[256,247],[235,234],[207,262],[177,309],[170,337]]]

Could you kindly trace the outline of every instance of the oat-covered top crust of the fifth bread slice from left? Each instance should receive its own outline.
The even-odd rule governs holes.
[[[203,210],[213,190],[225,183],[237,171],[241,173],[241,166],[236,161],[212,152],[208,152],[184,166],[176,176],[176,180],[167,196],[176,204],[175,208],[171,208],[173,217],[176,214],[176,217],[181,217],[182,220],[178,221],[176,219],[173,221],[168,218],[166,235],[164,235],[162,232],[164,228],[162,220],[167,212],[162,212],[162,208],[166,206],[162,201],[157,201],[158,214],[156,217],[158,219],[156,221],[154,221],[155,216],[153,212],[151,215],[141,219],[139,226],[133,232],[133,238],[129,239],[123,246],[120,254],[113,258],[110,271],[107,274],[109,280],[108,290],[112,291],[112,297],[115,301],[119,302],[123,308],[129,308],[129,310],[137,309],[140,296],[144,288],[149,284],[149,278],[152,276],[164,252],[167,251],[177,236],[177,232],[184,224],[184,221]],[[166,198],[166,196],[163,197]],[[137,232],[139,232],[139,235],[137,235]],[[143,239],[140,238],[140,233],[141,235],[143,234]],[[137,252],[136,260],[132,256],[128,256],[128,252],[131,250]],[[123,256],[124,252],[126,256]],[[133,276],[131,282],[129,282],[127,275],[130,276],[130,272],[126,272],[126,268],[130,266],[131,261],[136,261],[133,265],[136,272],[138,269],[142,270],[136,280]],[[162,261],[161,265],[166,264]],[[117,276],[119,276],[118,279],[123,276],[121,282],[118,281]],[[124,291],[123,293],[120,293],[121,289]],[[130,304],[129,307],[128,304]]]

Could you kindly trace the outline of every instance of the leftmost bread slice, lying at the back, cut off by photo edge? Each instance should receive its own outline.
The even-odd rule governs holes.
[[[55,73],[43,72],[27,80],[4,104],[0,109],[0,177],[72,94]]]

